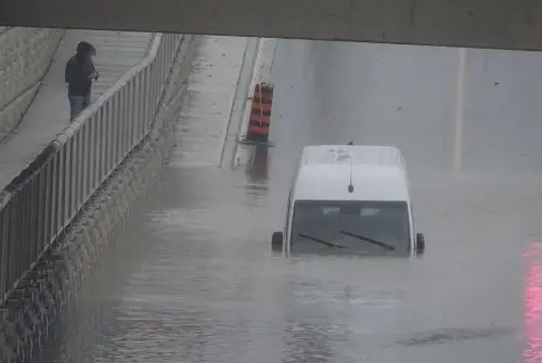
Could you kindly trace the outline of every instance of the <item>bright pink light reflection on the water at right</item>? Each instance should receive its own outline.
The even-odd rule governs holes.
[[[525,363],[542,362],[542,244],[533,243],[525,254]]]

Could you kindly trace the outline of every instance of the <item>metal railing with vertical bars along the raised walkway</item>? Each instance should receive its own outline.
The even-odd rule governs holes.
[[[143,62],[0,192],[0,303],[149,133],[181,39],[155,35]]]

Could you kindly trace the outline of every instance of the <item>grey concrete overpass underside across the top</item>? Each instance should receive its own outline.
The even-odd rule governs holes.
[[[533,0],[1,0],[0,25],[542,50]]]

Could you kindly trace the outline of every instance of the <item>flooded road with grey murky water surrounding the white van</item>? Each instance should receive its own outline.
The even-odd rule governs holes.
[[[457,111],[459,59],[280,40],[275,147],[236,170],[194,87],[163,183],[44,362],[542,362],[542,59],[467,51]],[[300,148],[350,140],[403,152],[425,256],[273,257]]]

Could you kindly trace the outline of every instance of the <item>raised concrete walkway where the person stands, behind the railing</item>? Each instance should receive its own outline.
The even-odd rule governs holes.
[[[92,101],[94,101],[145,56],[151,39],[150,33],[98,30],[66,33],[23,121],[12,135],[0,144],[0,191],[69,124],[64,67],[75,53],[77,43],[80,40],[89,41],[98,51],[94,65],[100,78],[92,89]]]

